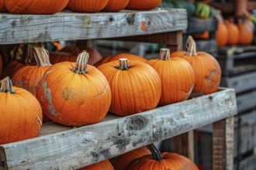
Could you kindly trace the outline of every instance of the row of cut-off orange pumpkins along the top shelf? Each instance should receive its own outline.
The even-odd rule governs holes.
[[[26,0],[0,0],[0,12],[54,14],[64,8],[74,12],[118,12],[124,8],[149,10],[160,4],[161,0],[34,0],[33,3]]]

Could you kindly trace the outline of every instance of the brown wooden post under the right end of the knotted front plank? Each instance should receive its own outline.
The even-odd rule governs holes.
[[[234,169],[234,117],[213,124],[213,170]]]

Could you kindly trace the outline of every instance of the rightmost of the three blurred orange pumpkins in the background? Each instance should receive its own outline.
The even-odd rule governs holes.
[[[237,27],[239,29],[239,44],[241,45],[251,44],[254,38],[254,32],[251,29],[251,26],[244,23],[239,23]]]

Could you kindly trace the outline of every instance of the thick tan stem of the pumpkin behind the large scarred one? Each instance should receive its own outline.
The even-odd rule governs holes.
[[[33,56],[36,59],[37,66],[52,66],[50,64],[49,52],[43,47],[34,47]]]

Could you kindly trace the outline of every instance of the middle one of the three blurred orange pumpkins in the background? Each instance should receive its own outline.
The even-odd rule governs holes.
[[[227,32],[228,32],[227,45],[231,45],[231,46],[237,45],[240,37],[239,29],[233,22],[227,22],[226,26],[227,26]]]

